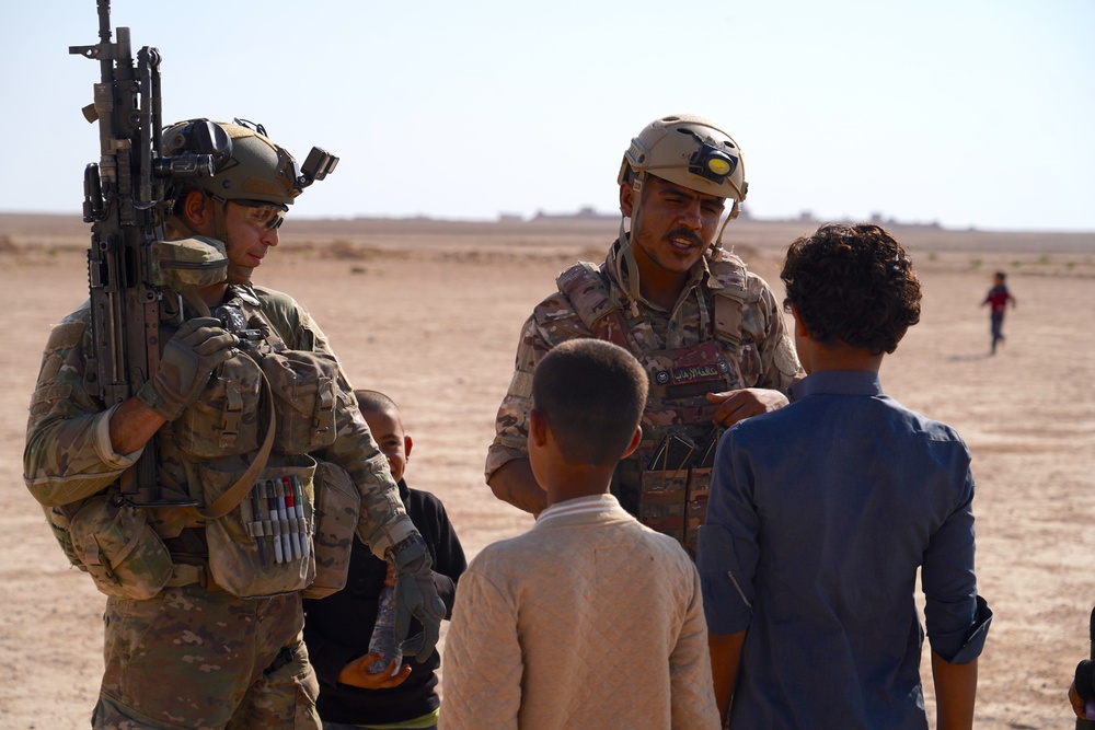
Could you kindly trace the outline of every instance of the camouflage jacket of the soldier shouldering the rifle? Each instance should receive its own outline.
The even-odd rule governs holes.
[[[262,309],[289,349],[331,352],[326,337],[288,294],[262,287],[232,287],[228,298],[239,297]],[[23,452],[23,478],[44,507],[71,505],[100,494],[114,484],[140,456],[114,452],[110,438],[113,408],[106,408],[84,383],[88,359],[93,352],[90,304],[55,325],[43,354],[37,385],[31,398]],[[400,500],[399,488],[357,407],[353,387],[338,369],[335,404],[337,437],[324,457],[345,468],[361,495],[357,533],[374,553],[383,551],[414,531]],[[157,439],[168,438],[168,426]],[[161,479],[186,485],[186,465],[164,457],[176,452],[172,444],[158,450]],[[193,485],[191,494],[200,494]],[[158,528],[159,530],[159,528]],[[161,535],[170,537],[173,535]]]

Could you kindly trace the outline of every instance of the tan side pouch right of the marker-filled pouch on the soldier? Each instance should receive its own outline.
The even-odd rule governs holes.
[[[306,599],[322,599],[346,587],[361,495],[343,467],[321,461],[315,466],[315,580]]]

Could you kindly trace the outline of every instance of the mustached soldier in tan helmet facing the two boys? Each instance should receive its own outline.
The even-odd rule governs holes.
[[[785,405],[803,372],[772,291],[722,247],[748,187],[729,135],[702,117],[657,119],[632,140],[618,183],[623,220],[608,258],[563,271],[525,324],[486,479],[499,499],[544,508],[526,449],[532,372],[562,341],[615,343],[646,368],[650,393],[643,443],[612,491],[694,556],[719,433]]]

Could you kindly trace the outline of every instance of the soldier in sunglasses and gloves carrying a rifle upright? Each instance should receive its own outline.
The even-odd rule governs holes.
[[[188,124],[165,132],[164,144],[185,149]],[[301,592],[322,561],[313,509],[322,511],[325,499],[328,512],[335,508],[326,483],[313,483],[315,462],[306,454],[315,447],[353,480],[345,489],[348,507],[337,514],[355,515],[349,530],[395,566],[397,601],[406,621],[413,614],[425,627],[426,654],[445,613],[428,556],[420,557],[422,536],[326,338],[289,296],[251,282],[300,193],[292,157],[258,127],[211,124],[232,139],[230,160],[214,177],[177,192],[168,234],[222,241],[228,280],[187,297],[185,321],[163,348],[159,371],[110,408],[85,380],[94,354],[85,303],[50,333],[31,402],[27,488],[70,559],[99,578],[110,596],[95,728],[321,727],[319,685],[301,638]],[[257,341],[246,345],[242,334],[209,316],[223,305],[242,313]],[[290,381],[303,380],[298,361],[331,364],[325,395],[319,387],[312,396],[287,395],[273,385],[267,397],[263,383],[278,368],[290,372]],[[297,407],[327,419],[307,427],[304,442],[275,427],[291,425]],[[267,419],[269,409],[278,420]],[[306,420],[311,424],[311,416]],[[196,507],[142,508],[119,497],[119,479],[149,443],[160,482]],[[264,463],[260,478],[247,470],[256,461]],[[254,485],[250,499],[214,509],[233,482]],[[275,507],[291,503],[292,495],[303,502],[302,517],[279,521]],[[118,524],[136,524],[140,540],[123,537],[129,544],[112,551]],[[285,534],[270,533],[279,526]],[[90,534],[81,538],[78,528]],[[334,545],[346,561],[349,546],[345,536]]]

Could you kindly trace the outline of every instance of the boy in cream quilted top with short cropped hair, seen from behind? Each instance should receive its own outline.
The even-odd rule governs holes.
[[[532,378],[529,461],[548,507],[460,580],[442,730],[717,730],[700,578],[609,494],[642,439],[646,372],[572,339]]]

